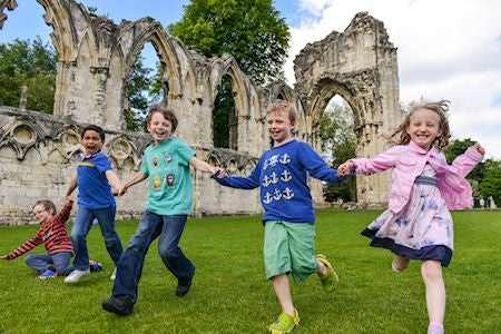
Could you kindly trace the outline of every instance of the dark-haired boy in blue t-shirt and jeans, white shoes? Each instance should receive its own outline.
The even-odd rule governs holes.
[[[81,131],[81,144],[85,153],[78,163],[77,175],[71,178],[66,191],[66,199],[69,200],[78,187],[78,210],[71,228],[75,271],[65,278],[66,283],[76,283],[90,273],[87,235],[96,218],[105,238],[106,249],[115,266],[124,250],[115,229],[117,205],[111,194],[111,186],[114,193],[117,193],[121,184],[108,156],[101,151],[105,131],[96,125],[85,127]],[[115,272],[111,274],[111,279],[114,278]]]

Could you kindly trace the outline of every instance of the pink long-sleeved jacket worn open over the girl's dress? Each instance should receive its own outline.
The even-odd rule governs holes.
[[[407,204],[415,178],[429,163],[436,173],[440,193],[450,209],[472,206],[472,190],[465,176],[480,163],[483,156],[474,148],[469,148],[448,165],[445,156],[438,148],[429,151],[411,141],[397,145],[379,154],[372,159],[352,159],[356,174],[370,175],[392,168],[392,186],[389,196],[389,209],[400,213]]]

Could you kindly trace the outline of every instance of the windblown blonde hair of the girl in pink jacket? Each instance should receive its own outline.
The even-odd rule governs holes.
[[[411,136],[409,136],[406,130],[411,125],[412,114],[420,109],[429,109],[436,112],[436,115],[439,115],[440,117],[439,129],[441,131],[441,135],[435,138],[432,145],[442,150],[449,145],[449,139],[451,138],[451,130],[449,128],[449,120],[446,115],[449,110],[449,100],[440,100],[412,107],[411,111],[409,111],[409,114],[405,116],[403,122],[390,136],[390,141],[395,145],[407,145],[409,143],[411,143]]]

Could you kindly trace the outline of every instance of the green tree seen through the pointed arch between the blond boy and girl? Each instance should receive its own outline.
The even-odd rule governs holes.
[[[337,167],[350,158],[355,157],[356,139],[353,129],[353,111],[346,102],[330,104],[321,119],[322,153],[325,159]],[[324,186],[324,198],[334,202],[355,200],[356,181],[352,177],[340,185]]]

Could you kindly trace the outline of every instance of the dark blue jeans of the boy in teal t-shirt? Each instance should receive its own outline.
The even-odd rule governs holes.
[[[145,212],[136,234],[118,263],[112,289],[114,296],[127,295],[136,303],[145,256],[149,245],[158,236],[160,236],[158,254],[167,269],[179,281],[193,277],[195,266],[178,246],[187,218],[187,215],[161,216],[149,210]]]

